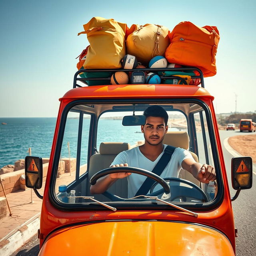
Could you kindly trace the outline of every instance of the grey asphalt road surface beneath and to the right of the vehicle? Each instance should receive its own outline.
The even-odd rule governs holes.
[[[230,187],[230,195],[233,197],[236,193],[231,184],[231,159],[234,157],[224,147],[225,138],[235,135],[255,135],[256,133],[240,133],[238,131],[220,130],[220,139],[222,141],[222,150],[225,159],[225,166]],[[254,172],[256,169],[254,169]],[[253,174],[253,179],[256,175]],[[256,182],[253,182],[250,190],[242,190],[238,198],[232,202],[235,226],[238,229],[236,238],[237,256],[256,256]],[[33,236],[25,246],[20,248],[11,256],[35,256],[39,252],[39,240],[37,235]]]

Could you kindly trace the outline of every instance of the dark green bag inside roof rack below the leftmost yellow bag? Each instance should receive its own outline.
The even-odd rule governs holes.
[[[80,68],[80,69],[83,69]],[[81,78],[110,78],[114,74],[114,72],[83,72],[80,73],[79,76]],[[110,79],[106,80],[85,80],[88,86],[93,85],[110,85]]]

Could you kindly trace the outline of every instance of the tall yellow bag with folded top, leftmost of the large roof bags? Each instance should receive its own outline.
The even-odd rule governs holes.
[[[93,17],[84,24],[83,32],[90,43],[84,63],[87,69],[121,68],[125,52],[125,33],[127,25],[114,19]]]

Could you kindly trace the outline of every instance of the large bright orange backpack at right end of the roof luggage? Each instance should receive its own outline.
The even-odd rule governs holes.
[[[200,68],[204,77],[216,74],[215,56],[220,40],[217,27],[200,28],[184,21],[176,25],[168,36],[170,45],[165,52],[168,62]]]

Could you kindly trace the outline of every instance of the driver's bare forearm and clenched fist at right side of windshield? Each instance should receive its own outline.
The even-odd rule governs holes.
[[[202,183],[216,180],[215,168],[211,165],[200,164],[192,158],[186,158],[182,161],[181,166]]]

